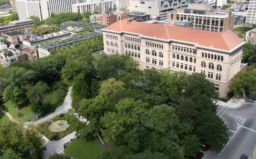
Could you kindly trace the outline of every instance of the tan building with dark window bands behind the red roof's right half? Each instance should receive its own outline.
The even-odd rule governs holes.
[[[214,11],[209,4],[188,4],[188,8],[177,8],[167,15],[167,19],[193,22],[194,29],[212,32],[233,30],[235,21],[231,11]]]

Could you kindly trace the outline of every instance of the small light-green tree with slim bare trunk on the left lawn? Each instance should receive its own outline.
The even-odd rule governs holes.
[[[23,91],[17,87],[17,86],[13,86],[13,85],[9,85],[6,88],[4,88],[4,92],[3,92],[3,100],[5,102],[11,101],[16,105],[17,110],[19,110],[18,108],[18,101],[20,100],[20,96],[23,94]]]

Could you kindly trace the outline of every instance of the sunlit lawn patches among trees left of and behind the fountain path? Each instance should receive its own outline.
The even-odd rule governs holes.
[[[53,90],[50,90],[48,92],[50,94],[50,96],[52,97],[51,102],[50,102],[50,108],[48,112],[45,112],[43,114],[39,114],[40,116],[45,116],[48,113],[52,113],[55,111],[54,108],[57,108],[59,106],[61,106],[64,102],[64,99],[62,101],[58,101],[57,99],[57,93]],[[11,116],[15,119],[18,117],[18,113],[20,112],[21,114],[29,114],[31,113],[31,106],[29,105],[29,100],[24,100],[22,102],[19,103],[19,109],[20,111],[16,111],[16,106],[15,104],[13,104],[12,102],[5,102],[3,105],[3,110],[7,111],[9,114],[11,114]]]

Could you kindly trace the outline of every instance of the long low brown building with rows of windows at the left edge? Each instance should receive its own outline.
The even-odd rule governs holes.
[[[25,30],[28,27],[34,26],[33,19],[14,20],[10,21],[9,24],[0,24],[0,33],[8,33],[12,31]]]

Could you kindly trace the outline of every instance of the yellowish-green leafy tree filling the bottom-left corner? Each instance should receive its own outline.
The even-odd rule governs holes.
[[[33,123],[27,124],[27,128],[23,126],[20,122],[11,120],[0,122],[0,149],[4,151],[4,155],[14,156],[14,151],[17,158],[41,158],[46,150],[42,134]]]

